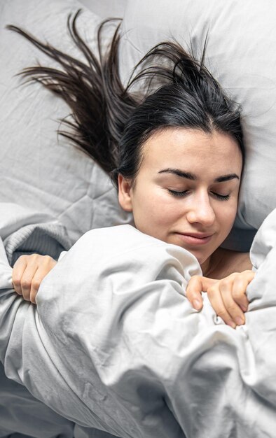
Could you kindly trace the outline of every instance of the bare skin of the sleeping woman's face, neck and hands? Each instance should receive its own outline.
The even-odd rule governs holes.
[[[254,273],[247,254],[219,248],[237,213],[242,155],[235,140],[221,132],[167,128],[142,147],[133,181],[118,176],[118,200],[132,211],[141,232],[190,251],[203,276],[193,276],[186,296],[202,308],[207,292],[216,314],[231,327],[244,323],[245,290]],[[55,260],[22,256],[13,269],[16,292],[31,302]]]

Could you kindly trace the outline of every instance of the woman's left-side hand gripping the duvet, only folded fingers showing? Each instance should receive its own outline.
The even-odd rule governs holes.
[[[13,266],[13,288],[26,301],[36,304],[36,294],[43,278],[57,262],[49,255],[21,255]]]

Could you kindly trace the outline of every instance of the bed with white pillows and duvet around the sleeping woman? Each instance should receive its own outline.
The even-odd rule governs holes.
[[[18,24],[74,52],[66,20],[79,6],[83,5],[69,0],[43,0],[39,6],[34,0],[24,5],[10,0],[0,5],[0,56],[5,66],[0,73],[0,437],[13,432],[76,438],[272,437],[275,5],[268,1],[264,8],[261,2],[252,5],[247,0],[221,5],[213,0],[173,4],[154,0],[149,5],[146,0],[132,0],[114,10],[123,15],[123,80],[155,43],[172,36],[200,52],[208,33],[207,66],[242,104],[247,164],[237,220],[225,246],[251,248],[257,276],[248,290],[247,323],[235,331],[216,318],[207,300],[200,316],[191,309],[183,291],[199,267],[193,257],[181,250],[174,253],[165,244],[162,250],[157,245],[149,252],[157,258],[156,271],[148,272],[149,277],[144,276],[146,260],[139,253],[132,260],[147,285],[156,284],[158,278],[161,287],[172,267],[170,287],[165,285],[162,293],[148,288],[142,299],[142,285],[130,276],[125,295],[111,295],[107,287],[102,288],[103,279],[109,278],[103,266],[100,278],[89,277],[88,260],[98,257],[100,250],[104,262],[104,254],[115,244],[122,254],[125,241],[136,248],[136,234],[127,225],[132,218],[120,211],[116,191],[104,172],[64,139],[57,139],[57,120],[68,111],[62,101],[39,85],[22,85],[15,76],[37,57],[40,62],[48,60],[4,28]],[[106,3],[102,16],[99,5],[92,6],[92,10],[83,6],[80,26],[95,48]],[[106,41],[109,36],[106,31]],[[118,227],[110,229],[113,246],[97,246],[99,227],[113,226]],[[92,241],[96,243],[90,245]],[[144,244],[151,245],[148,240]],[[43,282],[37,309],[16,297],[9,265],[22,253],[57,258],[62,250],[69,252]],[[158,262],[161,253],[165,264]],[[92,294],[90,313],[84,316],[81,309],[87,306],[90,291],[74,276],[67,291],[70,300],[63,288],[71,257],[80,254],[83,274],[94,281],[93,290],[99,290],[99,283],[102,288],[101,295]],[[112,260],[125,266],[123,257]],[[109,273],[113,267],[109,265]],[[111,278],[114,291],[117,281]],[[74,301],[76,290],[80,292]],[[165,328],[160,320],[167,321]]]

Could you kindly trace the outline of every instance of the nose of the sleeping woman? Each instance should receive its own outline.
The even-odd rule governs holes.
[[[204,227],[211,227],[214,224],[216,215],[208,193],[201,193],[193,197],[186,218],[189,223],[198,222]]]

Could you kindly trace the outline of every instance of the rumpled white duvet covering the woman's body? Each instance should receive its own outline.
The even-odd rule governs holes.
[[[200,274],[193,255],[130,225],[81,237],[41,284],[37,306],[11,289],[2,245],[7,376],[78,423],[79,437],[86,428],[129,438],[275,436],[275,224],[273,211],[256,235],[257,274],[236,330],[207,299],[200,313],[188,303],[186,283]]]

